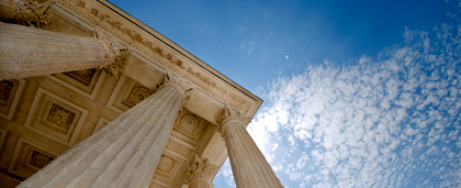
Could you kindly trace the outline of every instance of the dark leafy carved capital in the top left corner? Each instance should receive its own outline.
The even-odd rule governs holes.
[[[9,0],[8,3],[2,3],[8,4],[0,10],[1,19],[3,21],[43,27],[50,22],[49,18],[45,14],[45,11],[48,10],[52,4],[56,3],[56,0],[48,0],[43,3],[33,0]]]

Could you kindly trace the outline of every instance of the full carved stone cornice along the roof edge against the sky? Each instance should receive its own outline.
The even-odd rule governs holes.
[[[195,89],[222,103],[227,102],[246,115],[252,117],[262,103],[262,100],[257,96],[171,41],[166,42],[165,36],[142,24],[127,13],[121,12],[120,9],[106,1],[58,0],[56,7],[89,24],[94,30],[117,40],[120,44],[158,67],[188,80],[196,86]]]

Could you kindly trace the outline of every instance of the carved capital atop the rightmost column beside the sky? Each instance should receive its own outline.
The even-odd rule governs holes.
[[[231,108],[228,103],[225,104],[225,108],[223,112],[215,117],[215,120],[218,123],[218,130],[221,132],[221,136],[224,137],[225,134],[225,128],[231,122],[238,122],[240,124],[248,124],[251,121],[252,118],[250,117],[241,117],[239,111],[236,111]]]

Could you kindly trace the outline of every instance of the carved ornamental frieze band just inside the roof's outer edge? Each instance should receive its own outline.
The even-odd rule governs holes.
[[[125,26],[120,21],[112,19],[102,10],[98,10],[99,8],[91,4],[91,1],[58,0],[56,5],[80,18],[83,22],[92,25],[97,30],[104,31],[111,36],[119,38],[121,44],[127,46],[131,51],[133,49],[146,59],[156,63],[156,65],[166,70],[181,75],[181,77],[188,79],[191,84],[196,85],[199,90],[209,93],[217,101],[223,103],[228,102],[243,113],[247,113],[251,109],[252,102],[239,97],[235,92],[225,92],[227,89],[211,79],[209,73],[203,73],[193,66],[188,66],[187,63],[169,52],[169,49],[156,44],[158,41],[143,37],[139,33]]]

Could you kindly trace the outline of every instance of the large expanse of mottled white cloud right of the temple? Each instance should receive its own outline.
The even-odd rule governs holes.
[[[449,25],[406,29],[406,45],[378,59],[362,56],[349,66],[325,60],[280,77],[263,95],[269,104],[250,124],[251,135],[280,140],[277,146],[257,143],[289,168],[277,172],[293,187],[454,187],[460,34]]]

